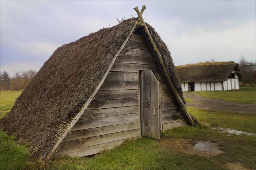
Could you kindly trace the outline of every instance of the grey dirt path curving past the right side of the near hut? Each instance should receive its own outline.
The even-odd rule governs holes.
[[[187,102],[187,107],[208,109],[216,111],[227,111],[236,113],[256,113],[255,104],[236,103],[233,101],[202,97],[196,93],[183,93],[185,98],[193,100],[193,102]]]

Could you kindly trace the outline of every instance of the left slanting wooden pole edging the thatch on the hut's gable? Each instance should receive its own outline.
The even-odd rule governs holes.
[[[79,120],[79,118],[82,116],[83,112],[85,111],[85,109],[89,106],[89,104],[91,103],[91,100],[93,100],[95,94],[98,92],[99,88],[101,87],[101,85],[103,84],[103,82],[105,81],[106,77],[108,76],[108,73],[111,69],[111,67],[113,66],[114,62],[116,61],[116,58],[118,57],[118,55],[121,53],[121,51],[123,50],[124,46],[126,45],[126,43],[128,42],[130,36],[133,33],[133,30],[135,29],[135,27],[137,26],[139,22],[139,18],[136,19],[136,22],[134,24],[134,26],[132,27],[131,31],[129,32],[128,36],[125,38],[123,44],[121,45],[121,47],[119,48],[119,50],[117,51],[116,55],[114,56],[114,58],[112,59],[112,62],[109,65],[108,70],[105,72],[102,80],[99,82],[99,84],[97,85],[96,89],[94,90],[93,94],[89,97],[89,99],[86,101],[86,103],[84,104],[84,106],[82,107],[82,110],[75,116],[75,118],[71,121],[69,127],[66,128],[65,132],[60,136],[60,138],[57,140],[57,142],[54,144],[54,146],[52,147],[52,149],[49,151],[49,153],[46,156],[46,161],[49,161],[50,158],[52,157],[52,154],[54,153],[54,151],[57,149],[57,147],[60,145],[60,143],[62,142],[62,140],[67,136],[68,132],[71,130],[71,128],[76,124],[76,122]]]

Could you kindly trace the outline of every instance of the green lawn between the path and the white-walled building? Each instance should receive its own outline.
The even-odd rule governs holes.
[[[239,103],[256,104],[256,88],[241,87],[236,91],[196,91],[200,96],[218,98]]]

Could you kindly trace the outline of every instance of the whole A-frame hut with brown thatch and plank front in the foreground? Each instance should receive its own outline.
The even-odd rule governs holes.
[[[141,13],[54,51],[1,127],[50,159],[193,125],[170,52]]]

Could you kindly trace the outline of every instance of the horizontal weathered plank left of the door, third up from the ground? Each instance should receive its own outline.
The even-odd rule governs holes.
[[[117,132],[129,131],[133,129],[139,129],[140,122],[132,122],[132,123],[125,123],[125,124],[117,124],[111,126],[104,126],[98,128],[91,128],[91,129],[83,129],[78,131],[72,131],[63,139],[63,142],[75,139],[82,139],[82,138],[90,138],[93,136],[101,136],[106,134],[113,134]]]

